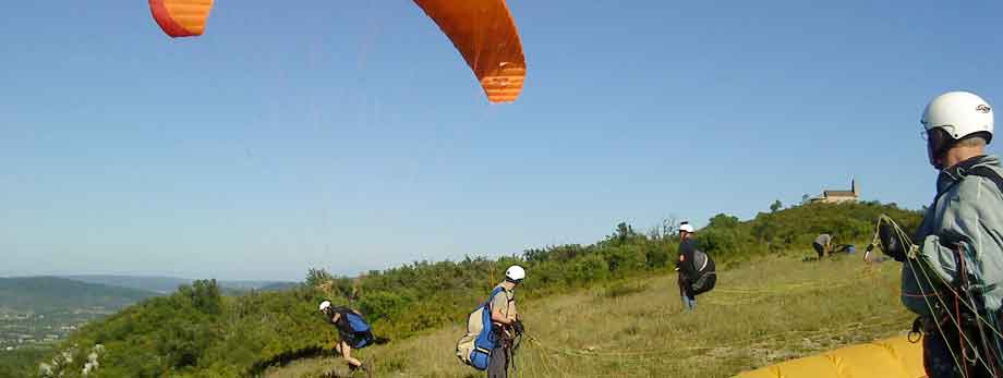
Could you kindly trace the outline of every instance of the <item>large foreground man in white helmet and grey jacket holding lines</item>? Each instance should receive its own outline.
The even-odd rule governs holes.
[[[911,240],[882,223],[881,247],[905,263],[902,302],[919,315],[914,330],[925,333],[927,375],[1001,377],[1003,167],[986,154],[992,108],[975,94],[948,92],[930,101],[921,123],[940,171],[936,196]]]

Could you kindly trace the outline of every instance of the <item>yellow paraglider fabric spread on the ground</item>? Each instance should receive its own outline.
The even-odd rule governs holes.
[[[736,378],[920,378],[923,370],[922,342],[905,337],[875,341],[791,359]]]

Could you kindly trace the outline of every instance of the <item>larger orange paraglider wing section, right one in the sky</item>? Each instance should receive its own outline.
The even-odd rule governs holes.
[[[510,102],[522,92],[525,57],[505,0],[414,0],[449,37],[487,100]]]

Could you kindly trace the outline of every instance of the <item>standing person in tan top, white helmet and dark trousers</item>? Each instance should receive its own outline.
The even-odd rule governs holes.
[[[522,318],[516,308],[516,288],[525,279],[525,269],[518,265],[505,270],[505,280],[495,289],[499,290],[491,298],[491,322],[499,342],[491,352],[491,362],[487,365],[488,378],[508,377],[509,352],[511,340],[516,333],[522,332]]]

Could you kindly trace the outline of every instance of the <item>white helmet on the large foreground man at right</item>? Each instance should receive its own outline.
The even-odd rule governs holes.
[[[992,108],[981,97],[969,92],[948,92],[938,96],[923,110],[920,121],[927,136],[930,162],[939,167],[939,158],[953,142],[975,133],[992,139]]]

